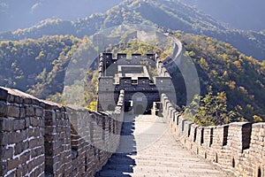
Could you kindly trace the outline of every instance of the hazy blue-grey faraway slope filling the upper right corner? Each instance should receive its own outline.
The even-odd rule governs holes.
[[[231,27],[261,31],[265,29],[265,1],[261,0],[180,0],[193,5]]]

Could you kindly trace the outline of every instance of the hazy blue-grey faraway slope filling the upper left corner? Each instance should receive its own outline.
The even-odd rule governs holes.
[[[84,18],[105,12],[122,0],[1,0],[0,32],[31,27],[44,19]]]

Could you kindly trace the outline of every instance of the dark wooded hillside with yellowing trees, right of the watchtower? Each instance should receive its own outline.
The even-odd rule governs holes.
[[[176,35],[196,65],[202,96],[211,89],[215,94],[224,92],[228,109],[236,113],[236,119],[265,120],[264,61],[247,57],[231,44],[205,35]]]

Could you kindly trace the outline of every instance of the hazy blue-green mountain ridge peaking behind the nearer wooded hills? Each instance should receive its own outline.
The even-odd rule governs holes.
[[[262,32],[231,30],[196,8],[174,0],[127,0],[106,13],[96,13],[75,21],[44,20],[30,28],[0,34],[0,40],[40,38],[43,35],[93,35],[100,29],[123,23],[148,24],[164,30],[208,35],[229,42],[248,56],[265,59],[265,35]]]

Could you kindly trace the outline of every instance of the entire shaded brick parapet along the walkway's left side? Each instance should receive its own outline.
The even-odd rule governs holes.
[[[115,152],[124,92],[115,112],[90,112],[0,88],[0,176],[93,176]]]

